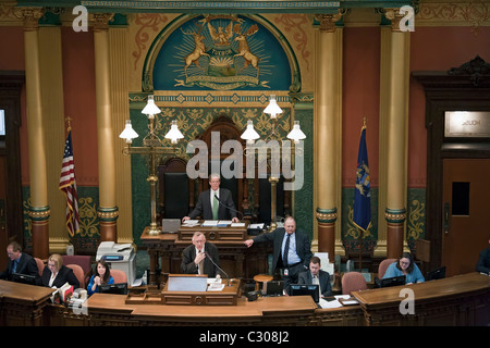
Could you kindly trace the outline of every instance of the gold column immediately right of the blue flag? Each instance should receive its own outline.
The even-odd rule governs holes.
[[[391,20],[390,79],[387,119],[387,258],[400,258],[403,252],[406,220],[409,32],[400,30],[403,14],[388,9]]]

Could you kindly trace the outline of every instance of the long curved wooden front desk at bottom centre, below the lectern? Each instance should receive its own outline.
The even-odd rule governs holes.
[[[309,296],[268,297],[236,306],[125,304],[125,296],[94,294],[90,325],[308,325],[316,304]]]

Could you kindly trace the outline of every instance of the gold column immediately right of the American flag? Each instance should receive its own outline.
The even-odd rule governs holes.
[[[112,130],[111,82],[109,65],[109,21],[113,14],[94,14],[94,45],[99,164],[100,241],[118,241],[115,206],[114,133]]]

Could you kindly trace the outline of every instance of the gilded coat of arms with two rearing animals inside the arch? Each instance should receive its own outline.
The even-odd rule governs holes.
[[[216,90],[269,87],[267,80],[260,80],[266,49],[257,35],[257,24],[235,15],[208,15],[181,32],[184,79],[175,78],[175,86]]]

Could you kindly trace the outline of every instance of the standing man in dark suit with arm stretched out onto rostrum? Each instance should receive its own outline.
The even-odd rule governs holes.
[[[264,241],[273,243],[272,270],[283,271],[284,290],[289,294],[290,285],[297,284],[299,273],[308,270],[311,258],[309,237],[296,231],[296,221],[290,216],[284,221],[284,227],[247,239],[245,245],[252,247],[254,243]]]

